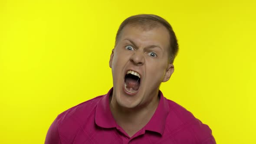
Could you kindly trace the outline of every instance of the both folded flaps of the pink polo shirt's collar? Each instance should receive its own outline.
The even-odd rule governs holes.
[[[102,128],[116,128],[117,123],[110,111],[109,106],[109,96],[112,94],[113,88],[111,88],[106,95],[103,95],[95,111],[95,123]],[[164,98],[162,92],[159,90],[160,101],[158,108],[156,109],[154,115],[145,125],[144,129],[147,131],[155,131],[159,134],[164,133],[164,126],[167,115],[169,113],[169,105],[167,99]]]

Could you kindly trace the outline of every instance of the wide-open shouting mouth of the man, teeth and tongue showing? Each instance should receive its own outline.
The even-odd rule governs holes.
[[[128,94],[135,94],[138,92],[138,89],[141,84],[141,76],[138,74],[138,72],[129,70],[126,72],[125,75],[125,91],[128,92]]]

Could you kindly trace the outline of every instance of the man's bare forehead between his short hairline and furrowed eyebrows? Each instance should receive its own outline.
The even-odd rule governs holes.
[[[163,48],[170,46],[170,35],[168,30],[162,26],[131,26],[122,29],[119,41],[131,39],[140,45],[159,45]]]

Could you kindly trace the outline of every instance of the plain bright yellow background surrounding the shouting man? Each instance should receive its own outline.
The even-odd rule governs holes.
[[[153,13],[180,44],[164,95],[218,144],[255,144],[255,0],[0,0],[0,144],[43,144],[56,116],[112,87],[120,23]]]

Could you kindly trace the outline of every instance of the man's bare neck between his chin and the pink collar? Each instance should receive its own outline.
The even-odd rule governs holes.
[[[136,108],[124,108],[115,100],[115,96],[110,97],[110,109],[117,124],[131,137],[143,128],[156,111],[159,103],[158,95],[148,102]]]

